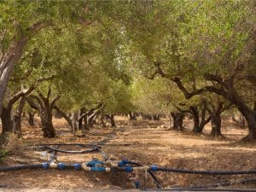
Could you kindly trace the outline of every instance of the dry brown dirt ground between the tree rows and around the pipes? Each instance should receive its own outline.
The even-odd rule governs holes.
[[[38,122],[38,121],[37,121]],[[256,169],[256,146],[251,143],[239,143],[247,134],[225,120],[222,138],[212,138],[207,134],[207,126],[203,135],[192,134],[191,121],[185,120],[187,129],[183,132],[172,131],[167,120],[149,121],[138,119],[129,121],[125,117],[117,117],[116,135],[102,147],[102,150],[113,160],[128,159],[144,165],[159,165],[192,170],[249,170]],[[57,138],[46,139],[38,123],[34,127],[24,125],[22,143],[16,143],[18,149],[0,166],[42,163],[46,160],[42,152],[33,150],[37,143],[94,143],[104,138],[112,128],[95,127],[84,137],[73,137],[64,119],[55,119]],[[81,148],[66,147],[80,150]],[[82,162],[91,158],[102,159],[101,154],[58,154],[61,162]],[[170,187],[189,187],[208,185],[226,181],[236,181],[246,176],[201,176],[158,172],[161,185]],[[133,177],[133,176],[132,176]],[[145,174],[138,173],[144,188],[154,188],[154,182]],[[255,177],[255,175],[254,175]],[[128,173],[95,173],[73,170],[22,170],[0,172],[0,190],[10,189],[134,189],[131,175]],[[256,188],[255,183],[236,184],[231,188]]]

